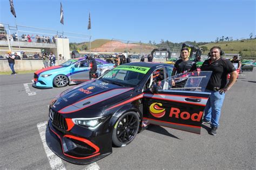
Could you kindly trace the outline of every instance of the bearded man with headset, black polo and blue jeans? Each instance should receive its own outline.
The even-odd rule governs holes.
[[[235,83],[237,71],[230,60],[221,58],[223,52],[220,47],[214,46],[210,50],[210,59],[205,60],[201,66],[202,71],[212,71],[211,78],[206,86],[206,92],[211,92],[204,110],[204,123],[211,123],[210,134],[216,135],[219,126],[221,106],[225,98],[225,92]],[[227,83],[227,74],[230,81]]]

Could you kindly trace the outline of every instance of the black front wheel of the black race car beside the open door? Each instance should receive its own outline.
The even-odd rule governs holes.
[[[126,112],[121,115],[114,125],[112,142],[117,147],[123,147],[136,137],[139,130],[139,116],[135,112]]]

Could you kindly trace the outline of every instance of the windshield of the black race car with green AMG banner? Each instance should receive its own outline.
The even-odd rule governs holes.
[[[119,86],[135,87],[149,70],[149,67],[121,65],[104,74],[100,80]]]

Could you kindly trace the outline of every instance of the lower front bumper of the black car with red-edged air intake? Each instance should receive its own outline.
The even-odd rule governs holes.
[[[112,153],[101,153],[100,148],[90,140],[58,131],[51,121],[46,130],[46,143],[60,158],[78,165],[91,164]]]

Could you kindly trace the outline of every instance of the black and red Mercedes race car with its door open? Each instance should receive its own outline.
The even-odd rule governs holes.
[[[147,125],[200,134],[211,72],[171,77],[173,66],[128,63],[60,93],[49,106],[46,142],[60,158],[90,164],[129,144]],[[184,81],[173,88],[171,81]]]

